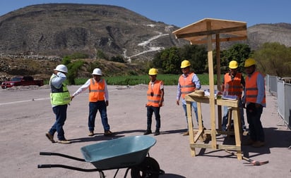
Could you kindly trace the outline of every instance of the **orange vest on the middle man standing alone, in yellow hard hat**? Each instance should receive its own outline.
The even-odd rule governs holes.
[[[162,97],[162,92],[160,91],[161,84],[163,84],[162,80],[155,80],[152,89],[152,83],[148,83],[148,91],[146,93],[148,96],[148,103],[146,103],[147,106],[160,107],[159,103]]]

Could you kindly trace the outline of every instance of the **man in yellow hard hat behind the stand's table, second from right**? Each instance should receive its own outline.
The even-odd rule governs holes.
[[[246,129],[244,123],[244,108],[242,106],[242,91],[244,90],[245,82],[242,73],[237,71],[238,67],[239,63],[237,63],[237,61],[230,61],[228,65],[230,72],[227,72],[222,78],[221,89],[224,95],[237,96],[237,99],[239,100],[239,113],[242,121],[242,129]],[[223,110],[222,131],[226,131],[227,127],[230,128],[230,125],[227,126],[229,110],[227,106],[224,106]]]

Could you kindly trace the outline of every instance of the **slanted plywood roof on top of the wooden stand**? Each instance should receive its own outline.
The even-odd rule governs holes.
[[[183,38],[191,44],[207,43],[206,37],[209,34],[220,35],[220,42],[229,42],[247,39],[247,23],[233,20],[221,20],[204,18],[196,23],[182,27],[173,32],[176,38]],[[213,39],[215,42],[215,39]]]

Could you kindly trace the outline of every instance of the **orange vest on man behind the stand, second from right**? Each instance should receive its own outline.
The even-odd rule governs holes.
[[[228,84],[228,95],[235,95],[242,98],[242,73],[237,72],[232,80],[230,73],[225,74],[225,84]]]

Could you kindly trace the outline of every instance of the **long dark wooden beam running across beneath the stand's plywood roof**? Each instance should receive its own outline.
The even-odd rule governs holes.
[[[198,36],[204,36],[204,35],[210,35],[210,34],[237,32],[237,31],[243,31],[243,30],[247,30],[247,25],[240,26],[240,27],[223,28],[223,29],[218,29],[218,30],[206,30],[206,31],[200,31],[200,32],[176,34],[176,37],[177,38],[189,38],[189,37],[198,37]]]

